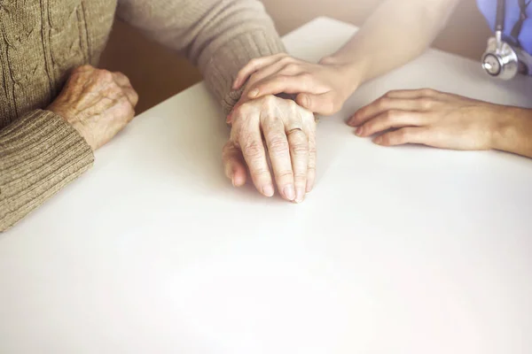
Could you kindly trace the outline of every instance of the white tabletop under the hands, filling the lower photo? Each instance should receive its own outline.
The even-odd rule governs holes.
[[[355,30],[316,19],[286,44],[316,60]],[[145,112],[0,236],[0,353],[531,353],[532,161],[343,123],[421,87],[532,103],[530,79],[429,50],[322,119],[303,204],[231,187],[203,84]]]

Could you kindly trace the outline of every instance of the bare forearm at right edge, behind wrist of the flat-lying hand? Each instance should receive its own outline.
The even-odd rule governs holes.
[[[532,158],[532,110],[504,107],[496,119],[493,149]]]

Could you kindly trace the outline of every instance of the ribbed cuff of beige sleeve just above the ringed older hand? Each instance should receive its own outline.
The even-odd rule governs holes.
[[[232,38],[230,43],[216,50],[204,63],[200,62],[200,70],[206,78],[207,86],[221,100],[225,114],[231,112],[242,95],[243,89],[231,90],[240,69],[253,58],[282,52],[286,50],[278,35],[261,29]]]

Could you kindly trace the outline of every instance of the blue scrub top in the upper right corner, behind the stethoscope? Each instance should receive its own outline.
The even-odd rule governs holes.
[[[526,19],[523,21],[520,34],[517,38],[512,36],[513,26],[520,19],[520,7],[519,0],[505,0],[506,1],[506,14],[505,14],[505,41],[512,42],[514,44],[520,43],[523,50],[526,50],[528,54],[532,55],[532,4],[527,6],[525,12]],[[532,0],[525,0],[528,4]],[[497,14],[497,0],[477,0],[479,9],[484,17],[488,20],[489,28],[495,31],[495,19]]]

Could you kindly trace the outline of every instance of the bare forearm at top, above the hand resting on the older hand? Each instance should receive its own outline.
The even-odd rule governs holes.
[[[456,4],[458,0],[387,0],[348,43],[322,61],[347,65],[354,90],[423,53]]]

